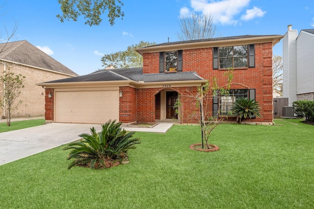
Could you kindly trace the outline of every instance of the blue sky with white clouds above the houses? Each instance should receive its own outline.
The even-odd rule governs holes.
[[[17,23],[12,41],[27,40],[77,72],[103,69],[104,53],[125,50],[139,41],[178,41],[179,17],[193,12],[211,14],[220,36],[284,35],[292,29],[314,28],[313,0],[122,0],[123,20],[111,26],[106,15],[99,26],[84,19],[61,23],[58,0],[7,0],[0,8],[0,39]],[[0,2],[4,2],[1,0]],[[2,5],[3,3],[1,3]],[[5,27],[4,27],[5,26]],[[282,55],[282,41],[274,47]]]

